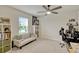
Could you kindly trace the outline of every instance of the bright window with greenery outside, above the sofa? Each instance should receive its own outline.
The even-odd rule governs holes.
[[[19,17],[19,34],[28,33],[28,19]]]

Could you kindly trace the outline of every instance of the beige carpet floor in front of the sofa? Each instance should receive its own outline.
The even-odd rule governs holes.
[[[67,53],[66,47],[61,48],[60,42],[48,39],[38,39],[22,49],[13,48],[9,53]]]

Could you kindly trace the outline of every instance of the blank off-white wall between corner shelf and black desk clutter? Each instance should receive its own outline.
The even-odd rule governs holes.
[[[44,17],[39,17],[40,20],[40,37],[52,40],[61,41],[59,30],[61,27],[67,28],[66,23],[69,19],[78,20],[77,12],[65,14],[51,14]]]

